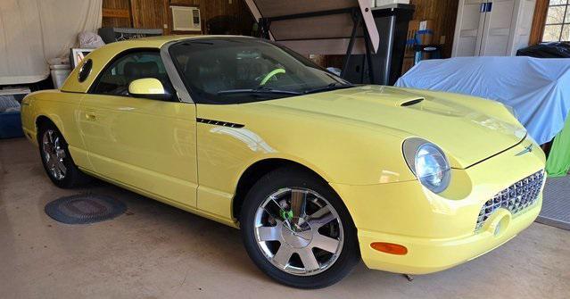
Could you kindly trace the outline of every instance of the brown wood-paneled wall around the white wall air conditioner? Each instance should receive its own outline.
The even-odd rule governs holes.
[[[103,0],[103,26],[163,29],[164,34],[185,33],[172,32],[170,5],[198,6],[202,33],[206,33],[206,21],[219,15],[238,18],[236,25],[253,21],[244,0]],[[119,14],[121,16],[117,16]]]

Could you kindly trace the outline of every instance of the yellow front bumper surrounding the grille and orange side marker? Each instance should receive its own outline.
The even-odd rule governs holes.
[[[452,170],[450,187],[435,195],[417,181],[348,186],[331,184],[358,228],[362,260],[371,269],[425,274],[445,270],[492,251],[527,228],[541,211],[542,196],[521,212],[500,208],[476,229],[485,202],[544,168],[544,154],[520,153],[531,140],[480,162]],[[374,242],[408,248],[404,255],[376,251]]]

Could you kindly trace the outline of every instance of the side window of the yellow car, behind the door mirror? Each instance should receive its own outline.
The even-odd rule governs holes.
[[[136,79],[159,79],[165,91],[172,95],[172,87],[159,52],[141,51],[116,59],[101,73],[91,91],[93,94],[130,96],[128,85]]]

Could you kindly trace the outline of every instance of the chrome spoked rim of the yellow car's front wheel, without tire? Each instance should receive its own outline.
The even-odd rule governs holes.
[[[307,276],[329,269],[343,250],[343,223],[335,208],[310,189],[282,188],[255,213],[254,234],[279,270]]]

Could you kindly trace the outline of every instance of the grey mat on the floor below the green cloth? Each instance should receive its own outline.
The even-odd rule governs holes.
[[[570,230],[570,176],[549,178],[537,222]]]

